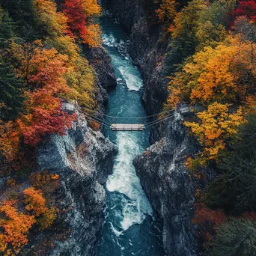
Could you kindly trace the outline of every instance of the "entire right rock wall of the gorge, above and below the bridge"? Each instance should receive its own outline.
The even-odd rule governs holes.
[[[159,113],[168,96],[168,80],[162,70],[168,45],[161,40],[162,28],[148,22],[144,1],[107,2],[129,33],[129,52],[144,79],[143,101],[147,113]],[[197,148],[182,121],[183,116],[177,113],[164,125],[150,129],[151,146],[133,164],[153,210],[162,219],[166,254],[198,255],[197,228],[192,224],[195,180],[185,165],[186,157],[193,155]]]

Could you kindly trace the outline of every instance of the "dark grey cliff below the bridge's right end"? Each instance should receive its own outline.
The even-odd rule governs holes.
[[[153,209],[163,220],[163,244],[167,255],[197,255],[194,214],[194,181],[186,168],[186,156],[195,152],[182,117],[165,127],[165,136],[137,156],[134,165]]]

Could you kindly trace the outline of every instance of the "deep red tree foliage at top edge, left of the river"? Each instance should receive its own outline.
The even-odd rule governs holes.
[[[64,13],[67,16],[67,33],[71,37],[80,37],[86,39],[86,16],[83,9],[82,0],[66,0],[64,1]]]

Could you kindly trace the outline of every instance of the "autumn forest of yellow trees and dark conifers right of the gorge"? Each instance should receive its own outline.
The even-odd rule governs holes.
[[[170,42],[164,109],[179,103],[205,109],[184,121],[199,147],[186,166],[198,180],[192,222],[200,251],[255,255],[256,2],[152,4]],[[205,186],[212,170],[216,179]]]

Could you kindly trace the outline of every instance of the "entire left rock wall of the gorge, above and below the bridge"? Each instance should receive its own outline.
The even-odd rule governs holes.
[[[97,100],[103,112],[107,90],[116,85],[111,58],[103,48],[92,49],[86,56],[97,76]],[[89,128],[85,116],[77,114],[67,135],[52,135],[37,147],[39,169],[59,175],[59,187],[49,195],[58,214],[51,228],[29,237],[24,255],[95,255],[104,222],[103,185],[112,173],[117,148],[100,131]]]

